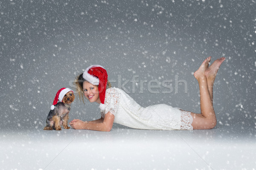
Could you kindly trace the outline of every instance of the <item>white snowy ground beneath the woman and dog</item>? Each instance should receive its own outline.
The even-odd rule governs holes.
[[[213,130],[2,131],[1,169],[256,169],[255,132]]]

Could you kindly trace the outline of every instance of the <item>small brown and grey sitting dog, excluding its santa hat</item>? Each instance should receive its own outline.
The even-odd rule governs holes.
[[[64,129],[70,129],[68,127],[68,114],[70,112],[71,103],[74,101],[75,95],[72,91],[67,92],[62,99],[62,102],[55,104],[55,108],[51,110],[46,119],[46,127],[44,130],[61,130],[61,125]]]

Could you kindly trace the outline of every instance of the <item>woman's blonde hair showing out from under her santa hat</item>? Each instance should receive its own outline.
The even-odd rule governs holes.
[[[80,101],[83,101],[84,103],[84,89],[83,89],[83,83],[84,81],[87,81],[83,78],[83,73],[81,73],[80,75],[76,76],[75,78],[75,81],[74,81],[74,84],[76,85],[76,92],[78,93],[78,96],[79,96],[79,100]],[[107,87],[106,89],[108,88],[111,88],[111,83],[109,81],[107,81]]]

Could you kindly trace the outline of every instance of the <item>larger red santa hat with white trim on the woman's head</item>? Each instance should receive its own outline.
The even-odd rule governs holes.
[[[108,74],[103,66],[92,65],[89,66],[83,73],[84,80],[90,84],[97,85],[99,89],[99,99],[101,104],[99,105],[101,110],[105,109],[105,93],[108,83]]]

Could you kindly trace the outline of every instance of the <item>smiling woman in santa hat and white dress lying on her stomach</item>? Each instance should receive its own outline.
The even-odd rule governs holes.
[[[113,122],[148,130],[212,129],[216,126],[212,88],[218,69],[225,58],[217,59],[209,66],[210,60],[211,57],[205,59],[194,73],[200,89],[201,114],[166,104],[141,107],[122,89],[111,87],[106,70],[102,66],[94,65],[76,78],[76,85],[77,90],[81,92],[80,99],[83,100],[84,95],[90,102],[100,104],[101,118],[95,121],[74,119],[70,125],[73,129],[98,131],[110,131]]]

